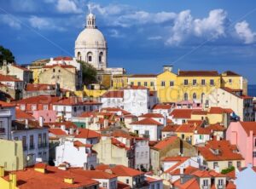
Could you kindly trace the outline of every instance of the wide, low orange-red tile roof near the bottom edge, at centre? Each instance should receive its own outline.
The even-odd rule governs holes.
[[[110,169],[112,171],[113,175],[117,175],[117,176],[134,177],[134,176],[138,176],[138,175],[144,175],[143,172],[141,172],[137,169],[125,167],[124,165],[113,165],[113,167],[112,167],[109,165],[100,164],[96,167],[96,170],[106,170],[106,169]]]

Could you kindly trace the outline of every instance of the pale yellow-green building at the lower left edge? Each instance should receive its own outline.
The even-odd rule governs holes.
[[[0,166],[5,170],[20,170],[24,168],[22,142],[16,140],[0,140]],[[2,188],[2,187],[0,187]]]

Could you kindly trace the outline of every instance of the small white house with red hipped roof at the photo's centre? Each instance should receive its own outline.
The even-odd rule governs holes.
[[[152,118],[144,118],[140,121],[130,123],[131,132],[148,138],[149,140],[160,140],[161,129],[164,125]]]

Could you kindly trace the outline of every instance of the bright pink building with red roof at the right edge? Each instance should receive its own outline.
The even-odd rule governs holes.
[[[238,147],[246,165],[256,166],[256,122],[231,122],[226,138]]]

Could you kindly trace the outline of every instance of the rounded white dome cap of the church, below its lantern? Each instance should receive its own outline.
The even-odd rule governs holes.
[[[79,33],[79,37],[76,40],[76,45],[84,47],[98,47],[107,48],[106,40],[102,32],[96,28],[84,28]]]

